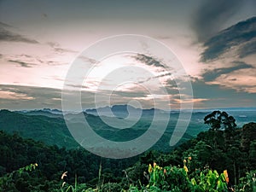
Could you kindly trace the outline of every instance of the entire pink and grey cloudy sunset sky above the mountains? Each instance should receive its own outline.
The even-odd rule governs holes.
[[[253,0],[0,0],[0,108],[61,109],[67,73],[83,51],[122,34],[165,44],[189,79],[173,78],[164,70],[172,63],[152,54],[106,55],[93,70],[87,60],[83,108],[256,107],[255,13]],[[183,92],[188,81],[192,97]]]

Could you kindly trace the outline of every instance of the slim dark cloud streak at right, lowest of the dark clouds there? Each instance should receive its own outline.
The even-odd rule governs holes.
[[[252,65],[248,65],[247,63],[241,61],[236,61],[234,64],[234,67],[223,67],[215,68],[213,70],[207,70],[205,73],[202,74],[202,77],[205,81],[208,82],[217,79],[222,74],[232,73],[239,69],[253,68]]]

